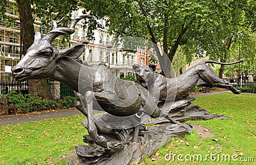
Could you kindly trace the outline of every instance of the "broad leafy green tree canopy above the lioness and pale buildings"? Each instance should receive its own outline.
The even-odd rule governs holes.
[[[228,50],[244,25],[248,3],[245,0],[82,0],[81,6],[92,10],[91,18],[105,18],[109,32],[116,37],[137,36],[161,43],[171,62],[179,46],[188,62],[205,52],[211,59],[225,62],[230,59]],[[100,26],[93,19],[87,24],[89,29]],[[223,69],[221,66],[220,72]]]

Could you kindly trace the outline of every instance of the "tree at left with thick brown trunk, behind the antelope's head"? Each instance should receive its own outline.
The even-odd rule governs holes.
[[[36,15],[38,18],[42,18],[44,24],[50,22],[52,19],[60,19],[63,16],[66,16],[68,13],[77,8],[77,1],[24,1],[17,0],[17,10],[19,11],[20,18],[20,32],[22,36],[22,53],[26,54],[26,51],[31,46],[34,40],[35,29],[34,22],[35,18],[33,15]],[[0,10],[2,20],[10,21],[10,17],[6,17],[6,6],[9,4],[9,1],[4,0]],[[32,6],[32,8],[31,8]],[[7,6],[8,7],[8,6]],[[65,10],[63,10],[65,8]],[[29,80],[29,93],[38,94],[42,98],[49,98],[50,92],[46,80]]]

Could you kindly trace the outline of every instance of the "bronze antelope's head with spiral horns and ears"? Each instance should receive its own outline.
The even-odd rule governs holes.
[[[57,50],[52,47],[51,43],[54,38],[62,34],[72,34],[79,20],[88,17],[90,11],[86,14],[79,15],[70,23],[69,27],[58,27],[61,22],[53,21],[53,29],[45,35],[36,32],[34,43],[28,48],[26,55],[12,68],[12,75],[17,81],[28,79],[49,78],[54,75],[56,63],[60,58],[67,57],[77,59],[84,50],[84,45],[76,45],[71,48]]]

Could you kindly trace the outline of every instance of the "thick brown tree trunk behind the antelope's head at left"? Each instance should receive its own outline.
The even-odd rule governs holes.
[[[31,1],[17,0],[20,15],[20,33],[22,36],[22,54],[26,54],[28,48],[34,42],[35,29],[34,20],[31,13]],[[42,99],[49,99],[51,94],[46,80],[28,80],[30,94],[38,94]]]

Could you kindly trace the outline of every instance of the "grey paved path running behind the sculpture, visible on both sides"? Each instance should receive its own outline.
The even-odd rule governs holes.
[[[220,92],[209,92],[203,94],[193,94],[192,97],[202,97],[202,96],[209,96],[212,94],[223,94],[223,93],[230,93],[229,90],[220,91]],[[42,112],[39,114],[28,114],[28,115],[4,115],[0,116],[0,126],[5,126],[8,124],[18,124],[23,122],[31,122],[37,120],[44,120],[49,118],[58,118],[58,117],[67,117],[71,115],[80,115],[82,114],[80,111],[76,110],[60,110],[54,112]]]

